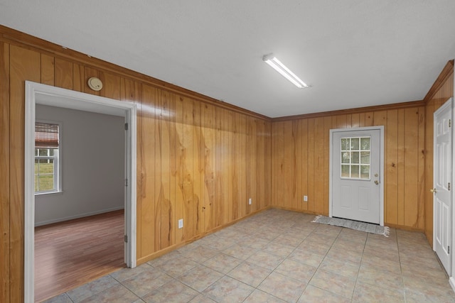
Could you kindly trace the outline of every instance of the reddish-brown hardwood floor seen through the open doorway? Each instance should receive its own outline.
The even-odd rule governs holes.
[[[124,267],[124,211],[35,228],[35,302]]]

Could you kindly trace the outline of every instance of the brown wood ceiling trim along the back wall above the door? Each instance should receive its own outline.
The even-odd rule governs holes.
[[[425,106],[425,101],[410,101],[410,102],[402,102],[402,103],[392,103],[392,104],[384,104],[384,105],[375,105],[375,106],[366,106],[366,107],[358,107],[355,109],[341,109],[337,111],[322,111],[320,113],[314,114],[301,114],[296,116],[285,116],[285,117],[278,117],[273,118],[272,122],[279,122],[279,121],[291,121],[291,120],[299,120],[299,119],[310,119],[310,118],[321,118],[326,116],[338,116],[338,115],[347,115],[347,114],[360,114],[360,113],[368,113],[373,111],[387,111],[390,109],[408,109],[410,107],[419,107]]]

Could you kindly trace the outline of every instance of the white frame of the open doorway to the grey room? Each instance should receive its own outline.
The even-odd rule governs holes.
[[[136,267],[136,132],[137,109],[131,102],[117,101],[92,94],[75,92],[45,84],[26,81],[25,100],[25,162],[24,162],[24,300],[34,302],[35,257],[35,194],[34,146],[36,104],[91,111],[99,114],[124,116],[129,124],[126,144],[126,171],[128,186],[125,189],[125,263]]]

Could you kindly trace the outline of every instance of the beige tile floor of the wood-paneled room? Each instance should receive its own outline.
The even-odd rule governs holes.
[[[47,302],[455,302],[422,233],[269,209]]]

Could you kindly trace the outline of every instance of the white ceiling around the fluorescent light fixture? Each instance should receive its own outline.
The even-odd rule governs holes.
[[[455,57],[454,0],[0,0],[0,24],[269,117],[421,100]]]

